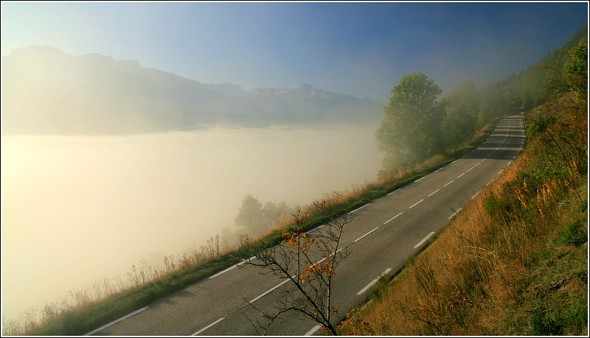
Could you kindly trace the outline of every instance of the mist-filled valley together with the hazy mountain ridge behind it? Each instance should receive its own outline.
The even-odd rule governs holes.
[[[41,62],[40,51],[55,55]],[[309,86],[247,92],[102,56],[77,59],[46,48],[33,54],[27,67],[5,64],[8,71],[3,73],[3,81],[14,84],[3,87],[2,117],[2,265],[11,276],[3,281],[3,313],[8,318],[58,301],[68,291],[90,290],[103,277],[127,279],[131,266],[140,261],[161,268],[164,256],[195,250],[224,228],[231,231],[246,194],[263,203],[306,204],[373,180],[381,166],[374,137],[378,118],[355,125],[359,113],[352,116],[358,108],[354,104],[348,106],[348,116],[334,113],[346,100],[368,107],[374,102]],[[57,60],[59,67],[47,64]],[[103,63],[81,66],[88,60]],[[64,71],[68,67],[93,75],[69,78],[84,71]],[[141,77],[129,75],[130,69],[157,79],[130,85],[125,81]],[[11,70],[45,76],[31,78]],[[100,74],[122,78],[91,79]],[[161,87],[150,87],[156,83]],[[194,92],[183,92],[179,83]],[[113,90],[108,84],[119,87]],[[136,92],[122,95],[123,87]],[[184,96],[155,97],[147,88]],[[234,101],[222,97],[232,91]],[[199,96],[203,93],[206,99]],[[317,101],[304,98],[314,95]],[[172,101],[176,108],[167,106]],[[212,107],[228,102],[246,108],[226,120],[229,113]],[[265,105],[266,110],[258,108]],[[323,110],[317,108],[321,105]],[[174,113],[158,115],[154,107],[163,106]],[[127,117],[120,116],[122,107],[127,107]],[[190,107],[199,109],[191,113]],[[289,107],[290,114],[280,110]],[[306,110],[313,107],[326,118]],[[274,109],[283,113],[271,114]],[[227,126],[220,126],[223,122]]]

